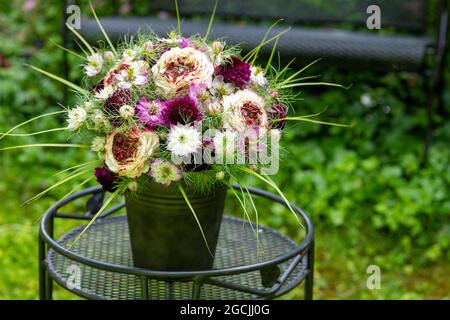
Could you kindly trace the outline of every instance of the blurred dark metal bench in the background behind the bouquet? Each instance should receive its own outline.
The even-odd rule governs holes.
[[[184,34],[204,33],[215,0],[179,0]],[[66,6],[77,1],[67,1]],[[381,8],[381,28],[389,32],[368,30],[366,9],[376,4]],[[322,58],[343,68],[376,71],[414,71],[422,74],[427,97],[428,127],[425,137],[426,155],[432,140],[432,118],[435,108],[443,110],[443,70],[446,57],[448,0],[435,8],[438,25],[429,30],[426,0],[222,0],[219,2],[212,37],[223,37],[230,43],[241,43],[244,50],[257,46],[268,29],[269,20],[285,19],[272,34],[286,24],[292,29],[278,42],[283,56],[296,57],[302,65]],[[101,22],[111,38],[135,34],[150,27],[167,34],[177,25],[172,0],[150,0],[146,17],[110,16]],[[429,6],[428,6],[429,7]],[[168,14],[158,14],[158,13]],[[237,23],[244,19],[244,23]],[[336,29],[348,26],[350,30]],[[363,30],[363,31],[361,31]],[[91,41],[102,39],[92,18],[82,20],[81,34]],[[434,36],[428,36],[432,34]],[[64,45],[69,44],[67,28],[62,31]],[[271,46],[261,52],[268,54]]]

